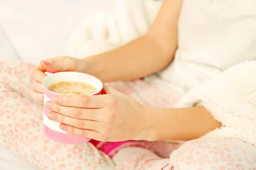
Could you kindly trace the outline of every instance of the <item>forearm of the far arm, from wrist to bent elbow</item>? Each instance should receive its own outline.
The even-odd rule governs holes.
[[[176,46],[164,51],[154,37],[145,35],[113,51],[85,58],[86,72],[103,82],[145,77],[171,62]]]

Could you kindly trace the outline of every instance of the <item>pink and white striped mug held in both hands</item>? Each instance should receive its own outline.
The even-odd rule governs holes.
[[[47,88],[55,83],[61,81],[78,81],[78,82],[85,82],[93,85],[97,92],[91,95],[99,95],[102,94],[103,84],[102,82],[93,77],[89,74],[79,73],[79,72],[72,72],[72,71],[65,71],[65,72],[58,72],[52,74],[51,72],[45,72],[48,76],[43,79],[43,88],[44,88],[44,104],[45,102],[52,100],[55,96],[60,95],[56,94],[52,91],[49,91]],[[49,120],[47,114],[50,112],[49,109],[44,107],[43,113],[43,130],[44,135],[57,143],[61,144],[81,144],[88,142],[90,139],[86,137],[76,136],[74,134],[70,134],[62,130],[59,125],[60,123],[54,122]]]

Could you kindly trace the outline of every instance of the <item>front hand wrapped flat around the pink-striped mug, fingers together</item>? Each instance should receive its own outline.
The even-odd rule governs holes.
[[[68,133],[99,141],[145,140],[146,107],[112,88],[96,96],[57,96],[48,118]],[[149,115],[148,115],[149,116]]]

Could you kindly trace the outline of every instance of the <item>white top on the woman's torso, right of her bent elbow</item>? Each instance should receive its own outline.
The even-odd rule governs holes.
[[[256,0],[184,0],[175,60],[159,76],[185,90],[256,59]]]

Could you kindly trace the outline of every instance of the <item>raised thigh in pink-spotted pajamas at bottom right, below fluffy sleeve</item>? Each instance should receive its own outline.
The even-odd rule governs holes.
[[[174,170],[256,170],[256,148],[233,139],[195,139],[175,150],[169,163]]]

